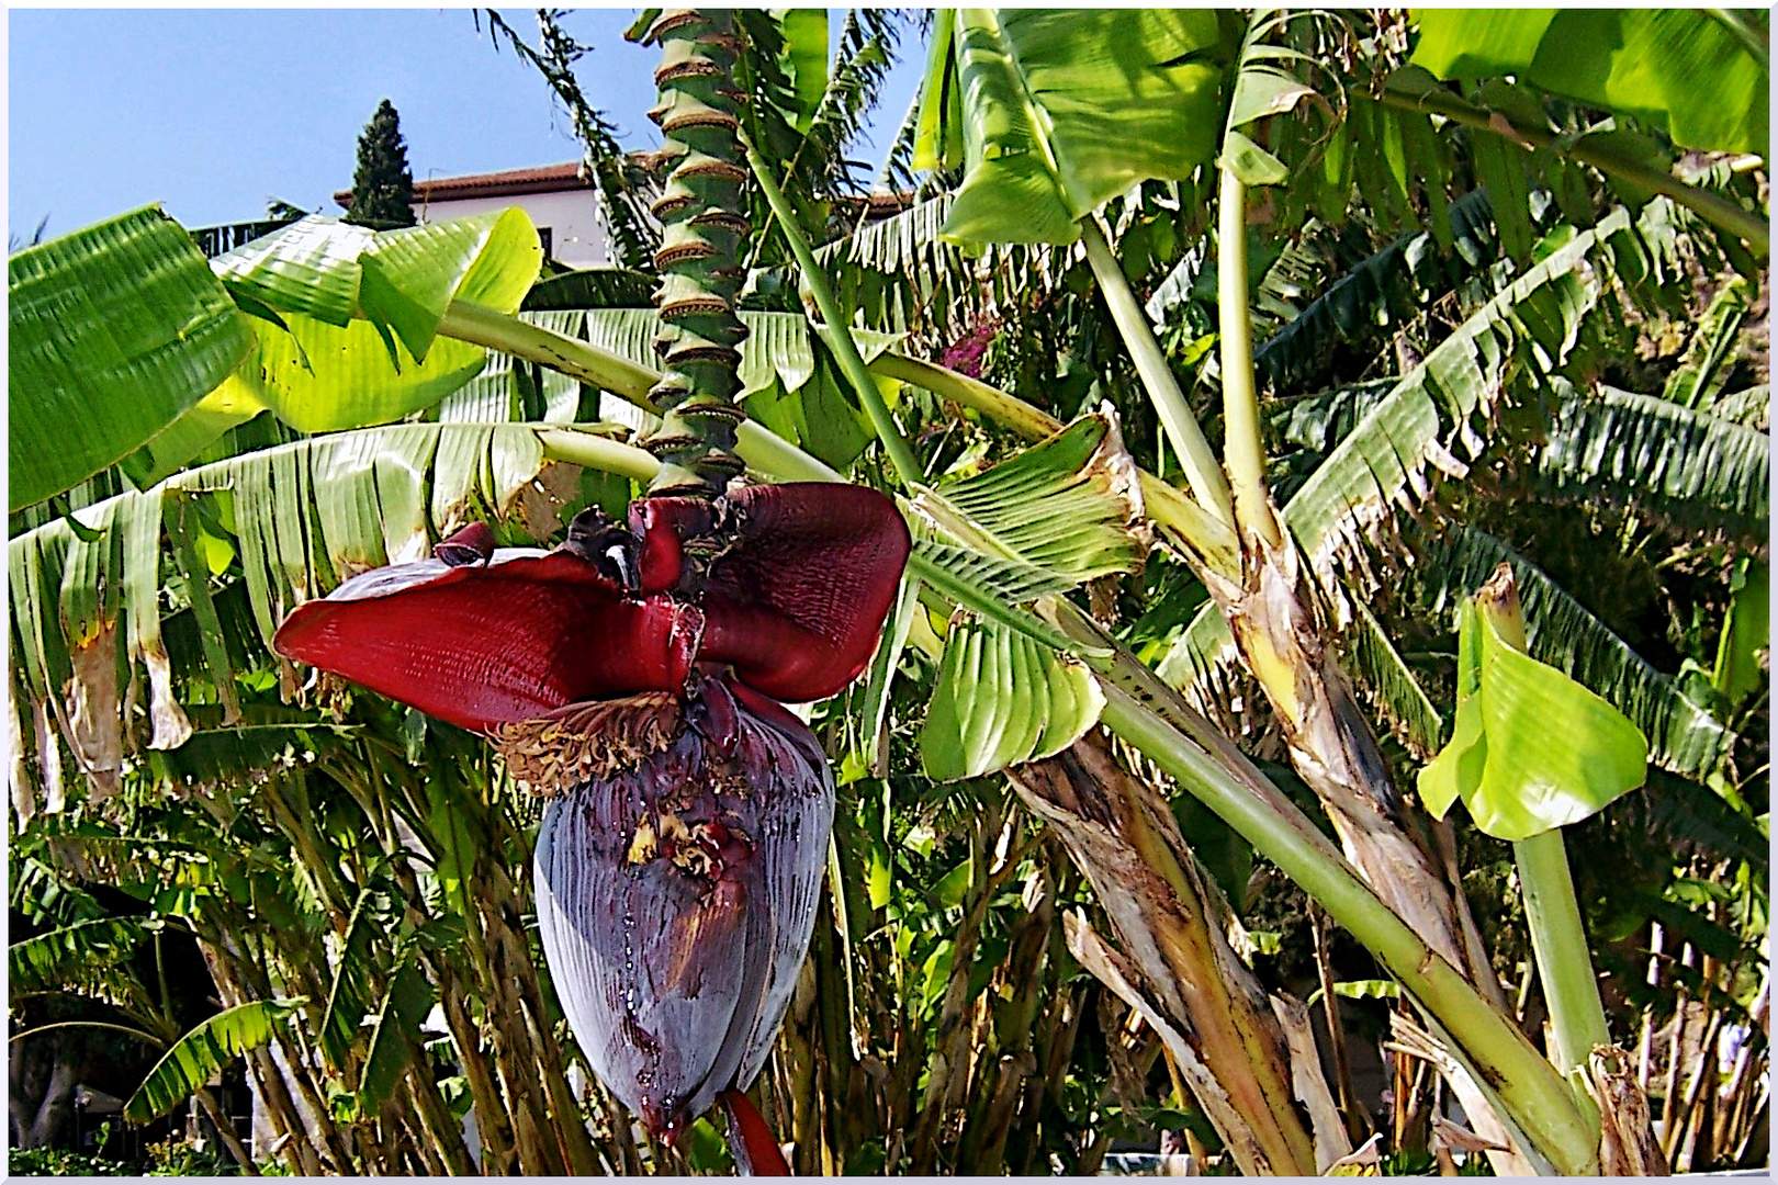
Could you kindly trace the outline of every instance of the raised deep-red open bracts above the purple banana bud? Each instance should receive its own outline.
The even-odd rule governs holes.
[[[683,691],[699,663],[818,700],[869,661],[907,561],[901,515],[852,485],[658,497],[629,531],[587,512],[551,553],[491,551],[477,524],[434,560],[311,600],[281,654],[475,730],[567,704]]]

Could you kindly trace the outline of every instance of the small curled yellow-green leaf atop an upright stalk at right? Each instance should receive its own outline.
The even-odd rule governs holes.
[[[1495,839],[1522,840],[1604,810],[1648,775],[1648,741],[1618,709],[1501,638],[1463,604],[1451,743],[1421,769],[1442,819],[1458,798]]]

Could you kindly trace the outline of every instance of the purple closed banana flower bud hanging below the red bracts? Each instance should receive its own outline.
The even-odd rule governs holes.
[[[587,1061],[672,1139],[765,1066],[814,926],[834,780],[802,721],[720,680],[683,716],[663,695],[585,711],[599,727],[581,737],[621,736],[622,753],[564,750],[541,721],[500,743],[533,778],[573,782],[564,753],[590,775],[537,835],[539,933]]]

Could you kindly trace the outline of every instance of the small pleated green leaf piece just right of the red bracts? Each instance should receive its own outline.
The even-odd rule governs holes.
[[[1104,709],[1083,664],[997,622],[951,629],[919,732],[926,776],[973,778],[1074,744]]]

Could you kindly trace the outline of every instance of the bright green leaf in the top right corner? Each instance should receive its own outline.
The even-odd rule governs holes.
[[[1636,115],[1682,147],[1769,151],[1767,66],[1707,12],[1415,9],[1414,16],[1421,39],[1412,60],[1440,78],[1513,75],[1550,94]],[[1764,14],[1746,16],[1762,21]]]

